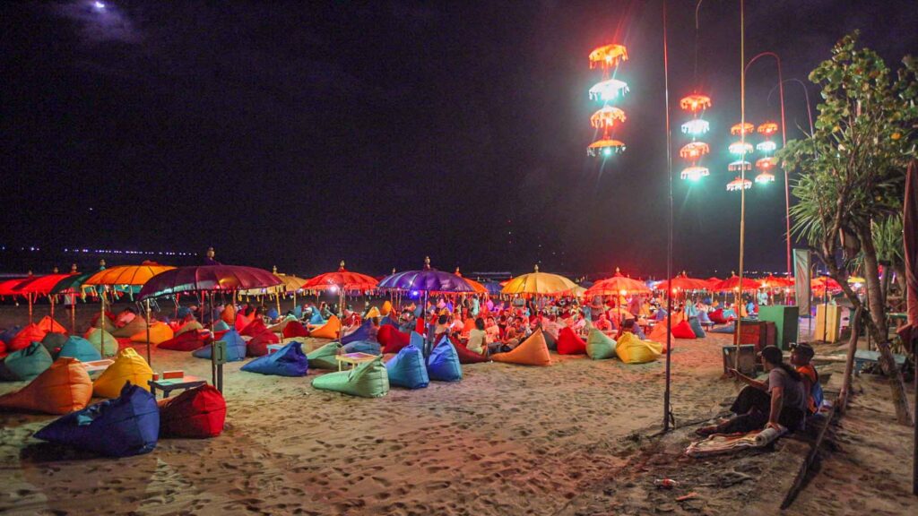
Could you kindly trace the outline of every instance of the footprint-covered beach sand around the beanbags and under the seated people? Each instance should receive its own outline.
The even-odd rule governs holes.
[[[0,326],[21,323],[23,312],[14,318],[13,308],[0,309]],[[80,312],[81,322],[93,313]],[[738,391],[721,375],[721,347],[730,340],[676,342],[677,426],[722,413]],[[327,342],[303,341],[307,350]],[[393,387],[375,399],[310,387],[319,371],[261,376],[233,363],[225,368],[222,435],[162,439],[151,454],[117,460],[33,439],[52,416],[3,413],[0,513],[778,513],[806,453],[803,440],[689,459],[682,451],[695,426],[651,437],[663,420],[663,360],[552,357],[551,367],[466,365],[461,382]],[[154,350],[152,365],[210,375],[209,362],[190,353]],[[0,384],[0,393],[22,385]],[[892,423],[882,380],[864,376],[857,385],[864,394],[834,432],[838,449],[787,514],[918,509],[908,493],[911,429]],[[659,477],[679,485],[657,489]],[[697,497],[675,500],[689,492]]]

